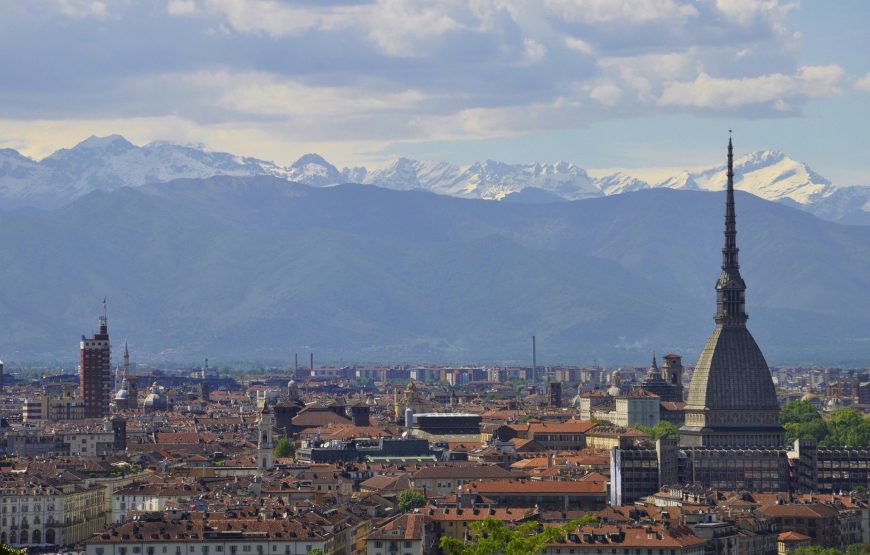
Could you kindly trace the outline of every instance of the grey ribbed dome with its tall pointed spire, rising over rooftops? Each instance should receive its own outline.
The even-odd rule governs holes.
[[[725,246],[716,282],[716,327],[707,339],[680,429],[685,447],[781,447],[779,405],[761,349],[746,329],[746,283],[737,262],[734,210],[734,149],[728,139]]]

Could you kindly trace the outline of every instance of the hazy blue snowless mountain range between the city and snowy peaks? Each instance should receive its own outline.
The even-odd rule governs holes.
[[[114,148],[112,160],[130,160],[165,147]],[[200,152],[175,170],[204,171]],[[235,169],[260,164],[210,156]],[[134,362],[313,351],[323,361],[528,363],[534,334],[542,364],[643,362],[653,351],[693,363],[713,327],[721,193],[641,188],[548,202],[556,180],[541,166],[529,170],[539,187],[505,202],[288,181],[320,171],[314,157],[270,170],[280,176],[117,188],[108,184],[120,162],[98,171],[61,159],[81,176],[65,190],[100,190],[0,213],[7,362],[74,360],[104,296],[114,343],[128,338]],[[450,181],[444,167],[412,166]],[[153,181],[157,170],[125,171]],[[689,177],[700,189],[716,172]],[[769,362],[866,365],[870,226],[744,193],[737,210],[749,326]]]

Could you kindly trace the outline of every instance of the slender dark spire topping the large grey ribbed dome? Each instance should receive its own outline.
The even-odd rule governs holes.
[[[725,246],[722,248],[722,273],[716,282],[716,323],[744,325],[746,283],[737,262],[737,217],[734,211],[734,145],[728,131],[728,187],[725,200]]]

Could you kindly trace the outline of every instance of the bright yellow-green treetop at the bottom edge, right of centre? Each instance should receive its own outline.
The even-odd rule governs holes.
[[[549,544],[575,529],[577,523],[542,526],[539,522],[524,522],[511,528],[500,520],[488,518],[472,522],[468,527],[472,537],[467,541],[441,536],[439,546],[445,555],[539,555]]]

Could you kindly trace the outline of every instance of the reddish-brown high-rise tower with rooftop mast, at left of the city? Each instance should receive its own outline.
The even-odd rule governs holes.
[[[100,316],[100,331],[79,344],[79,390],[85,403],[85,418],[104,418],[109,414],[112,394],[112,348],[106,300]]]

